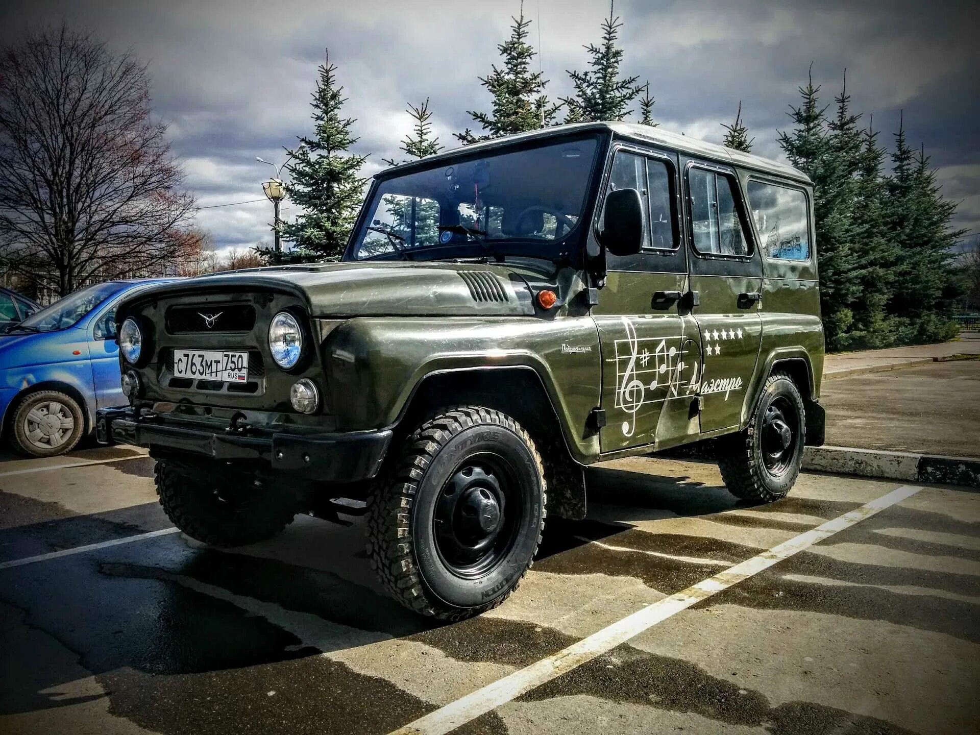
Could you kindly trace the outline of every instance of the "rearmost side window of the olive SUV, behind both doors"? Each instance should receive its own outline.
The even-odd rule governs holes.
[[[749,206],[769,258],[809,261],[807,195],[800,189],[750,181]]]

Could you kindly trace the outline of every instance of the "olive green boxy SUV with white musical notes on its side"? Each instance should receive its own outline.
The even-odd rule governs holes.
[[[812,191],[659,128],[564,125],[374,177],[341,263],[141,291],[118,311],[130,407],[188,535],[248,544],[368,515],[418,613],[499,605],[583,467],[716,437],[751,501],[823,441]]]

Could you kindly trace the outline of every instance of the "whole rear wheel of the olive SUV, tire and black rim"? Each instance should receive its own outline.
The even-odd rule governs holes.
[[[803,466],[806,426],[796,383],[784,372],[769,375],[748,427],[720,442],[718,468],[729,492],[759,503],[785,497]]]

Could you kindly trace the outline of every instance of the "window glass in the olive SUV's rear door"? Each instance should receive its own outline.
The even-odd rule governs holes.
[[[688,172],[694,248],[705,255],[751,255],[735,207],[733,180],[706,169]]]

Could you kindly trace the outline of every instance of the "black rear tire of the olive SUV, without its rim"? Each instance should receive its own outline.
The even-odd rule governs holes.
[[[795,454],[792,463],[778,477],[772,476],[763,464],[761,442],[765,410],[776,397],[789,401],[796,409],[798,419],[793,427]],[[749,425],[743,431],[718,440],[718,468],[728,491],[736,498],[755,503],[772,503],[786,497],[800,474],[806,438],[807,420],[800,390],[787,373],[773,372],[762,386]]]

